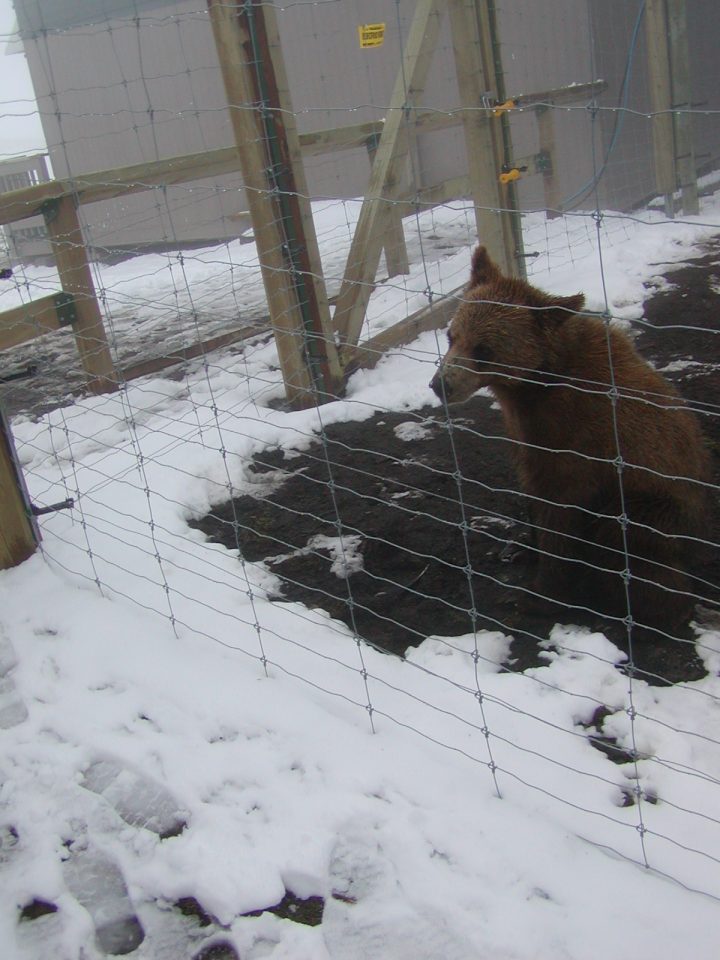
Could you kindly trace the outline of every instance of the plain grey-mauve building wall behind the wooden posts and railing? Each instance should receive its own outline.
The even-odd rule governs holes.
[[[15,4],[56,176],[232,145],[230,115],[202,5],[194,0],[53,4],[15,0]],[[698,88],[703,86],[703,94],[716,98],[720,84],[715,82],[711,94],[705,89],[708,77],[717,80],[717,58],[703,32],[699,8],[707,8],[715,22],[720,5],[696,0],[689,7],[693,44],[700,51],[695,57],[693,47],[695,82]],[[616,102],[635,2],[497,0],[496,8],[509,95],[601,77],[608,90],[600,102],[608,106]],[[317,0],[278,9],[301,132],[384,116],[414,9],[413,0]],[[382,47],[360,49],[357,27],[368,22],[385,22]],[[642,42],[635,57],[632,102],[646,103]],[[452,111],[458,102],[445,23],[421,105]],[[578,103],[554,111],[559,146],[555,173],[570,205],[578,190],[592,181],[613,132],[612,113],[597,115],[587,107]],[[516,158],[537,152],[533,111],[513,113],[512,133]],[[709,131],[707,124],[698,124],[698,136],[705,152],[720,154],[716,128]],[[625,118],[612,163],[600,183],[608,205],[626,208],[649,192],[648,137],[644,118]],[[461,129],[420,136],[410,166],[409,175],[422,186],[465,173]],[[306,162],[314,197],[362,196],[369,171],[365,149]],[[519,196],[524,209],[542,209],[541,178],[525,177]],[[246,207],[240,176],[233,175],[84,207],[83,213],[92,245],[132,248],[149,242],[173,245],[234,237],[247,225],[242,216]]]

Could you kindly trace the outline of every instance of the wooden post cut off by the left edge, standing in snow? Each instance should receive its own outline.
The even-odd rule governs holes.
[[[0,410],[0,570],[27,560],[39,541],[10,427]]]

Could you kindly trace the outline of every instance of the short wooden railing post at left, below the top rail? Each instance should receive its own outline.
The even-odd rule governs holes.
[[[92,393],[117,390],[102,314],[95,295],[85,239],[72,197],[51,201],[43,210],[60,284],[74,297],[73,333]]]

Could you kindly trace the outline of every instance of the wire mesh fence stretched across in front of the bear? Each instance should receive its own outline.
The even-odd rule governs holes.
[[[0,196],[43,562],[717,899],[720,13],[85,6]]]

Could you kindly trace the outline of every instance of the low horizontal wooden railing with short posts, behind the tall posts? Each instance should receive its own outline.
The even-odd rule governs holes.
[[[597,95],[605,87],[602,81],[592,84],[578,84],[572,87],[548,90],[541,93],[523,95],[510,101],[506,109],[532,109],[537,117],[539,146],[550,158],[547,169],[542,172],[545,186],[545,200],[548,208],[556,206],[556,187],[553,175],[553,111],[546,105],[577,102]],[[480,105],[488,122],[491,111],[487,105]],[[442,112],[437,110],[418,110],[408,120],[414,134],[445,130],[463,123],[467,111]],[[385,122],[369,121],[345,127],[315,131],[299,135],[303,156],[317,156],[343,150],[365,148],[371,162],[372,155],[382,134]],[[16,223],[38,214],[42,215],[48,230],[60,278],[61,291],[42,297],[22,306],[0,313],[0,350],[8,349],[43,336],[46,333],[71,327],[77,343],[82,366],[88,377],[88,389],[91,392],[106,392],[117,388],[118,382],[152,372],[151,362],[133,365],[124,371],[114,368],[108,347],[102,313],[98,304],[92,272],[82,228],[78,217],[78,207],[86,203],[113,200],[129,194],[152,190],[158,186],[170,186],[192,182],[194,180],[218,177],[236,172],[239,168],[236,147],[223,147],[204,153],[188,154],[158,160],[150,163],[133,164],[88,174],[80,174],[68,179],[51,180],[20,190],[0,195],[0,226]],[[456,177],[444,183],[427,187],[418,192],[395,190],[393,216],[398,222],[403,216],[414,212],[416,202],[423,205],[439,205],[459,196],[468,196],[471,182],[468,177]],[[402,230],[388,231],[393,247],[388,249],[388,262],[402,264],[406,260],[402,244]],[[386,238],[387,239],[387,238]],[[402,269],[400,266],[398,269]],[[407,269],[407,267],[405,267]],[[431,315],[420,311],[423,323],[431,323]],[[387,331],[383,343],[388,346],[406,341],[415,329],[415,318],[406,318],[397,325],[397,329]],[[437,313],[438,325],[445,322],[445,312]],[[227,346],[237,340],[257,333],[257,327],[243,327],[221,337],[215,337],[191,348],[190,351],[176,351],[172,356],[159,358],[155,369],[179,363],[190,354],[198,355],[205,349]],[[347,361],[352,366],[369,362],[375,351],[355,349],[349,345]]]

